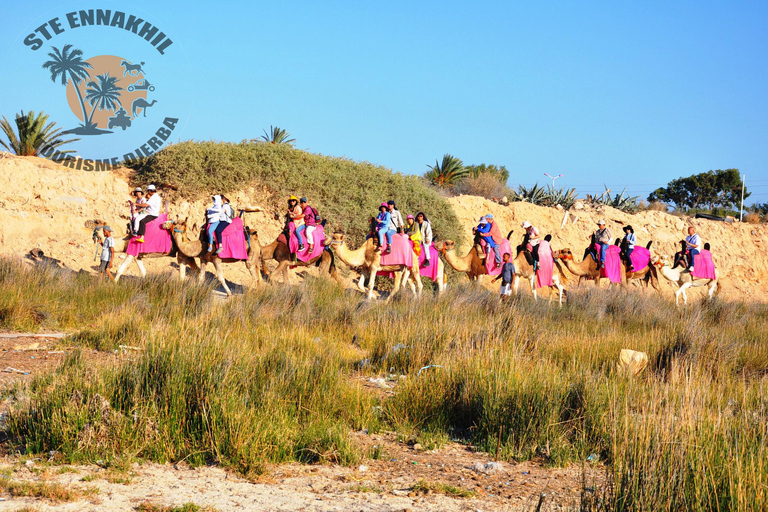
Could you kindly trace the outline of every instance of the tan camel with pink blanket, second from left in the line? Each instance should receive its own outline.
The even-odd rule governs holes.
[[[205,267],[208,263],[212,263],[216,270],[216,277],[224,288],[227,297],[232,296],[232,292],[227,286],[227,281],[224,279],[224,273],[221,270],[221,263],[237,263],[243,260],[234,258],[219,258],[216,254],[208,252],[204,244],[198,240],[191,240],[187,237],[187,219],[183,221],[176,221],[171,223],[173,226],[173,233],[171,240],[173,246],[180,256],[185,258],[191,258],[192,261],[195,258],[200,260],[200,274],[198,279],[202,282],[205,279]],[[194,228],[193,228],[194,231]],[[201,230],[202,233],[202,230]],[[255,231],[251,231],[250,235],[253,237],[256,235]],[[261,254],[261,246],[258,243],[251,243],[248,248],[248,259],[245,260],[245,267],[251,274],[254,283],[258,286],[261,284],[261,272],[259,270],[263,267],[263,259]],[[181,271],[181,278],[184,279],[185,268],[184,265],[179,263],[179,270]]]

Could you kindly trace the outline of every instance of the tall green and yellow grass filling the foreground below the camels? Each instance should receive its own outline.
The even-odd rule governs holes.
[[[103,368],[74,354],[17,389],[8,433],[33,452],[249,473],[284,460],[351,463],[362,456],[351,429],[391,428],[508,460],[597,458],[610,510],[768,506],[764,304],[676,309],[650,293],[587,289],[558,308],[459,285],[385,305],[322,279],[217,304],[205,286],[157,277],[151,307],[151,292],[137,302],[141,283],[92,283],[108,307],[91,317],[75,313],[77,279],[0,265],[16,283],[14,311],[90,322],[70,343],[109,348],[129,336],[144,347]],[[622,348],[649,355],[641,375],[617,368]],[[390,373],[406,376],[391,397],[360,386]]]

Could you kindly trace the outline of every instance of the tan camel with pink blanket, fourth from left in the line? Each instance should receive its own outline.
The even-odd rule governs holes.
[[[409,281],[411,289],[414,290],[417,296],[421,295],[422,284],[421,276],[419,275],[419,258],[416,253],[411,251],[413,255],[413,272],[411,272],[405,265],[381,265],[381,249],[374,246],[373,239],[369,238],[365,243],[355,250],[347,247],[344,242],[343,233],[334,233],[331,242],[336,256],[347,266],[352,268],[362,269],[363,277],[360,283],[363,283],[364,279],[368,278],[368,299],[373,299],[373,287],[376,284],[376,273],[379,271],[394,272],[395,273],[395,286],[392,288],[392,293],[387,297],[387,302],[392,300],[392,297],[400,291],[404,281]],[[362,288],[361,284],[358,284]]]

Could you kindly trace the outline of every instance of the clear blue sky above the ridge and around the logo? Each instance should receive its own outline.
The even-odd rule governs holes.
[[[8,3],[0,114],[50,93],[16,79],[24,36],[85,8],[156,20],[186,53],[176,139],[277,125],[299,148],[402,173],[451,153],[505,165],[512,186],[564,174],[581,194],[645,197],[735,167],[748,202],[768,201],[765,2]]]

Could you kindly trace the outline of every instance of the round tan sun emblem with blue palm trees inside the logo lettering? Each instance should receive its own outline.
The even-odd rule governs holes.
[[[125,130],[138,115],[147,117],[147,110],[157,100],[147,101],[155,86],[146,79],[141,64],[115,55],[98,55],[83,60],[83,52],[65,45],[61,50],[52,47],[51,60],[43,68],[51,73],[51,80],[60,80],[66,86],[67,102],[72,113],[81,121],[80,126],[64,133],[102,135],[113,133],[115,127]],[[131,66],[135,71],[124,73]],[[90,108],[89,108],[90,107]]]

